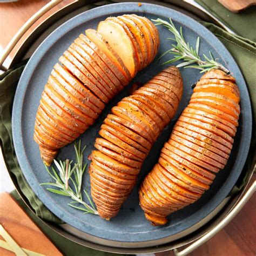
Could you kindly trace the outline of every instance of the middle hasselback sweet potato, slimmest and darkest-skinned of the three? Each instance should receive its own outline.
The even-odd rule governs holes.
[[[154,83],[161,73],[154,77],[114,106],[99,131],[101,138],[96,139],[97,150],[92,151],[90,156],[90,178],[92,199],[99,215],[104,219],[109,220],[117,215],[136,183],[140,167],[152,144],[178,109],[183,91],[181,75],[173,66],[165,72],[169,83]],[[150,87],[147,87],[148,84]],[[176,87],[179,98],[172,92],[173,86]],[[172,185],[175,190],[184,194],[183,196],[177,192],[173,198],[177,202],[176,208],[186,201],[196,200],[197,193],[203,193],[203,188],[207,187],[203,184],[202,190],[195,189],[191,192],[186,190],[186,186],[183,188],[179,184]],[[162,205],[164,203],[159,205],[159,209]]]

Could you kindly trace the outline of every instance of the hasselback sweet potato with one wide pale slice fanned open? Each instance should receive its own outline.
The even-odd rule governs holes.
[[[85,35],[76,38],[60,56],[42,93],[34,138],[46,165],[52,163],[60,147],[71,143],[95,123],[105,105],[152,62],[159,48],[156,27],[149,19],[137,15],[107,18],[100,22],[98,31],[87,29]],[[134,99],[125,104],[136,108],[136,103]],[[105,136],[110,133],[104,131]],[[150,132],[148,136],[153,140],[156,134]],[[104,147],[105,153],[112,157],[113,148],[116,149],[106,147],[102,140],[97,147]],[[131,154],[136,153],[126,156]],[[127,163],[138,166],[136,161],[133,158]]]

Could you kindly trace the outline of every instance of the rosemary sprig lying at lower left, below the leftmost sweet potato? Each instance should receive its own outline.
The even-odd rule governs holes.
[[[52,186],[54,188],[47,187],[46,190],[65,197],[70,197],[72,201],[68,204],[69,206],[84,211],[84,213],[92,213],[98,215],[98,212],[93,205],[89,194],[85,190],[83,190],[83,192],[90,205],[85,203],[82,197],[82,179],[87,165],[83,164],[83,153],[85,148],[86,146],[81,149],[80,140],[78,145],[75,143],[76,164],[72,165],[73,161],[70,161],[69,159],[64,161],[53,160],[58,173],[55,167],[51,167],[49,170],[49,168],[45,166],[46,171],[50,174],[55,182],[42,183],[40,185]]]

